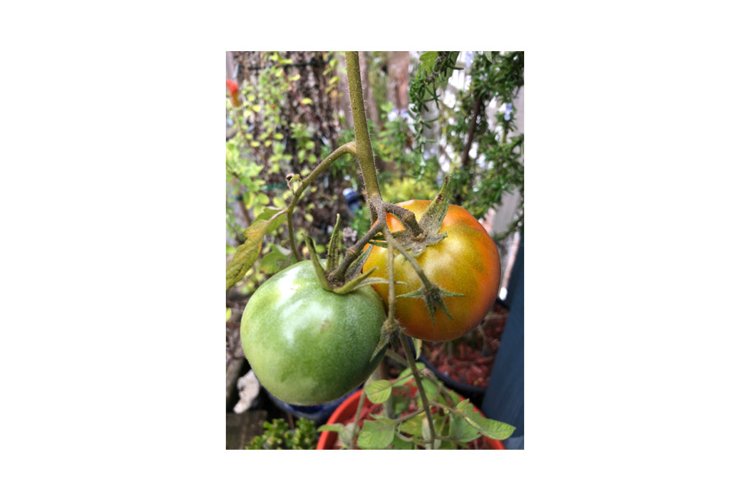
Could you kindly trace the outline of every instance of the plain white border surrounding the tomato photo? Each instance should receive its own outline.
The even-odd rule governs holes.
[[[748,498],[739,3],[20,5],[0,496]],[[224,450],[224,52],[302,49],[526,51],[526,450]]]

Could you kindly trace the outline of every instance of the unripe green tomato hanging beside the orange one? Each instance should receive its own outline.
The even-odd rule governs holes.
[[[275,274],[242,314],[242,349],[260,383],[290,404],[340,398],[373,372],[383,303],[370,287],[346,295],[320,286],[312,262]]]

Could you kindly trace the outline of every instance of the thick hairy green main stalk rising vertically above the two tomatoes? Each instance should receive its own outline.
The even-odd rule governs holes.
[[[378,186],[378,175],[375,169],[375,157],[372,154],[370,134],[367,131],[367,117],[365,115],[365,101],[362,94],[362,80],[359,75],[359,54],[357,52],[346,53],[346,77],[349,80],[349,101],[352,106],[352,117],[354,118],[354,137],[357,144],[357,162],[362,172],[365,183],[368,203],[373,199],[380,199],[380,188]],[[370,221],[375,222],[377,214],[370,206]]]

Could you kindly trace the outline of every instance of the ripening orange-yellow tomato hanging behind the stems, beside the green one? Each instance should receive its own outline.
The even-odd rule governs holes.
[[[411,200],[398,205],[414,212],[419,220],[429,200]],[[388,214],[386,223],[392,231],[404,229],[401,222]],[[412,337],[445,341],[460,337],[476,327],[497,297],[500,286],[500,256],[497,245],[481,224],[464,208],[450,205],[440,226],[446,237],[430,245],[417,257],[417,262],[434,284],[461,297],[443,297],[452,318],[438,309],[434,321],[421,298],[397,298],[396,319]],[[373,267],[373,276],[388,279],[388,250],[373,247],[363,271]],[[418,290],[422,282],[409,262],[396,253],[394,258],[396,295]],[[399,284],[398,282],[403,282]],[[388,285],[374,285],[388,302]]]

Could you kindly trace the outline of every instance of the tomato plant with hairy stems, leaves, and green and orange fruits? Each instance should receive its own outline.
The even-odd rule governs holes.
[[[354,140],[339,145],[309,172],[288,172],[287,196],[253,214],[255,220],[243,231],[243,242],[228,263],[227,289],[246,277],[261,255],[264,238],[286,223],[288,253],[297,264],[263,283],[248,301],[240,322],[244,354],[269,393],[287,403],[313,405],[338,399],[365,382],[388,346],[400,343],[404,356],[394,349],[388,354],[404,372],[393,381],[370,378],[354,421],[365,397],[376,404],[391,400],[393,405],[362,426],[361,441],[353,426],[354,445],[438,449],[473,441],[480,434],[505,439],[512,426],[479,415],[467,401],[444,397],[445,388],[417,365],[406,338],[450,340],[482,320],[500,282],[495,242],[467,210],[449,205],[451,172],[431,201],[384,201],[365,116],[359,56],[347,52],[345,57]],[[452,68],[451,60],[454,53],[440,56],[440,68]],[[426,53],[420,61],[431,75],[428,80],[434,80],[430,68],[437,65],[437,53]],[[237,123],[246,125],[242,119]],[[346,156],[359,165],[369,228],[347,247],[337,215],[324,262],[303,231],[310,259],[303,260],[295,209],[305,191]],[[409,399],[419,394],[419,401],[411,401],[408,413],[394,418],[394,388],[407,379],[414,388]],[[348,431],[343,425],[329,430]]]

